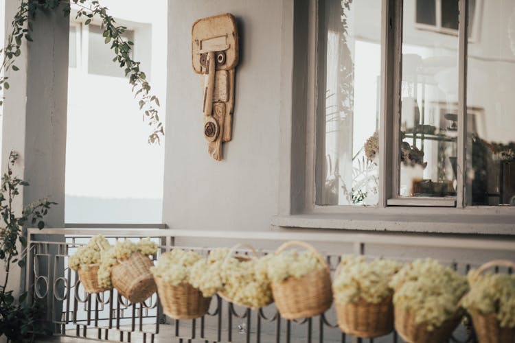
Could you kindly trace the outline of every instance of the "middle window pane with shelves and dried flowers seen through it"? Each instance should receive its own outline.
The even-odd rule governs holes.
[[[404,1],[400,196],[455,196],[458,38],[415,29]]]

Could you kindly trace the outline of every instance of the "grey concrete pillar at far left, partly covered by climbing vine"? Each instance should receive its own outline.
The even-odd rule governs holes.
[[[5,37],[20,3],[5,1]],[[58,205],[49,211],[47,226],[64,227],[69,18],[62,9],[38,12],[33,27],[34,41],[23,43],[15,63],[20,70],[10,71],[4,93],[1,170],[7,169],[10,151],[19,152],[14,173],[30,187],[21,191],[16,210],[49,198]],[[14,271],[9,286],[19,289],[23,274]]]

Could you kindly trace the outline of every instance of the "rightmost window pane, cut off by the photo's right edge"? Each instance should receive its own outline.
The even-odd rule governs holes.
[[[468,45],[467,204],[515,205],[515,5],[476,8],[478,39]],[[472,13],[471,13],[472,14]]]

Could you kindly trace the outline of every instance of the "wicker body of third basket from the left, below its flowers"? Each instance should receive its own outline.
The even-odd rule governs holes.
[[[160,277],[154,279],[165,315],[174,319],[195,319],[207,313],[211,298],[204,298],[202,292],[189,283],[174,286]]]

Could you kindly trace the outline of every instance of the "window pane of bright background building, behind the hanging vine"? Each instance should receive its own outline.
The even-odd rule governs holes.
[[[118,62],[113,62],[114,54],[110,49],[111,43],[106,44],[104,42],[103,33],[100,26],[89,25],[88,73],[123,78],[125,75],[124,69],[119,67]],[[123,37],[125,40],[134,42],[134,31],[126,30]],[[133,56],[133,54],[130,55]]]

